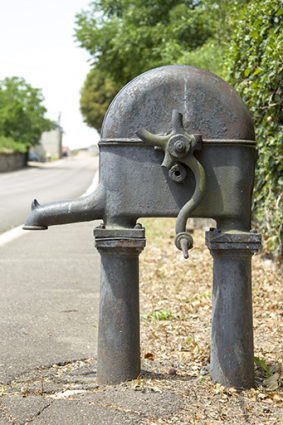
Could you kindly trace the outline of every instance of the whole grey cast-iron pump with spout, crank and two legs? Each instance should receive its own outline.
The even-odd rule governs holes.
[[[189,217],[212,218],[211,376],[231,387],[254,385],[251,231],[255,136],[239,95],[199,68],[153,69],[111,103],[99,142],[99,185],[84,198],[33,201],[25,229],[102,219],[97,379],[115,384],[140,373],[140,217],[177,217],[175,245],[188,258]],[[188,265],[189,267],[189,265]]]

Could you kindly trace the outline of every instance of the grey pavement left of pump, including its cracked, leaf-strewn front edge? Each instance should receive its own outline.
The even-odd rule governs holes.
[[[180,408],[171,391],[96,384],[97,224],[0,247],[0,425],[153,424]]]

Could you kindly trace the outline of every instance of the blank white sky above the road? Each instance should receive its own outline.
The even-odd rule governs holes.
[[[46,117],[61,112],[63,145],[87,147],[99,140],[83,123],[80,89],[90,70],[88,53],[74,41],[75,14],[90,0],[2,0],[0,2],[0,80],[23,77],[42,89]]]

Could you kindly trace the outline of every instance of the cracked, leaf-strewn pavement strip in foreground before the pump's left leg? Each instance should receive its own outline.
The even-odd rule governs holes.
[[[2,386],[0,424],[146,424],[184,407],[174,391],[133,383],[99,387],[95,370],[92,358],[24,373]]]

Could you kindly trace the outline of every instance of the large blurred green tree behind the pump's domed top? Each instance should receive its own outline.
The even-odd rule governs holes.
[[[100,131],[120,88],[157,66],[189,64],[220,72],[228,4],[228,0],[96,0],[90,10],[77,14],[76,39],[93,57],[81,92],[85,122]]]

